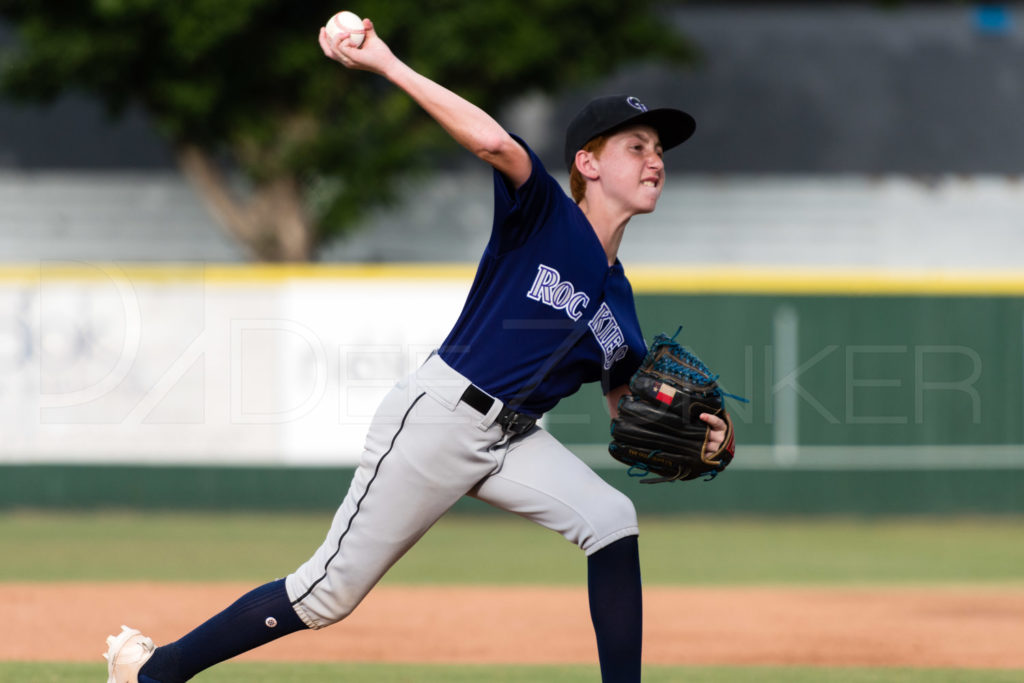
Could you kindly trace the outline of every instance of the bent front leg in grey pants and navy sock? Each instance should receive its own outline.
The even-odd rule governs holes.
[[[639,682],[643,600],[632,501],[542,429],[513,439],[501,469],[471,495],[558,531],[587,553],[601,678]]]

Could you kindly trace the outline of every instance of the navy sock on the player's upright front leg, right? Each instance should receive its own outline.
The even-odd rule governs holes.
[[[601,681],[640,683],[643,597],[637,537],[626,537],[591,555],[587,574]]]

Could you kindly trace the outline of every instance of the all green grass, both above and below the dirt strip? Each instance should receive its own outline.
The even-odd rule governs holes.
[[[318,545],[329,514],[12,512],[0,515],[0,582],[262,582]],[[1024,519],[644,519],[647,585],[1024,584]],[[560,537],[509,517],[451,517],[385,578],[390,584],[583,585]],[[0,682],[103,680],[103,665],[0,663]],[[593,682],[596,667],[227,663],[203,683]],[[895,683],[1024,681],[1024,671],[649,667],[645,681]]]

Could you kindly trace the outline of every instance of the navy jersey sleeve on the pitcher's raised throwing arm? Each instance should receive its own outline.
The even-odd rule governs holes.
[[[494,172],[495,218],[487,247],[496,255],[526,244],[551,224],[559,204],[572,202],[529,145],[515,135],[513,138],[529,155],[531,170],[518,188],[499,171]]]

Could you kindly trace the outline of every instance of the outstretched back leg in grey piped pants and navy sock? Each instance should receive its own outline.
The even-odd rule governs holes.
[[[480,420],[469,407],[399,383],[374,419],[348,494],[312,558],[157,648],[139,683],[186,681],[288,633],[348,615],[444,511],[496,469],[500,449],[492,446],[504,436]]]

